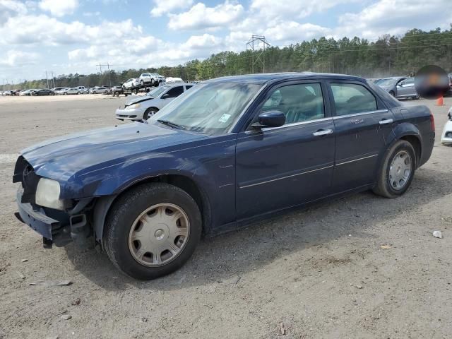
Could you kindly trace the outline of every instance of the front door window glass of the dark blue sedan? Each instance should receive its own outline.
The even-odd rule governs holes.
[[[263,112],[273,109],[285,114],[286,124],[325,117],[320,83],[301,83],[278,88],[262,107]]]

